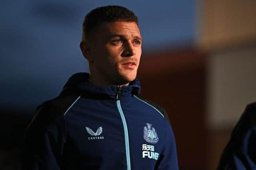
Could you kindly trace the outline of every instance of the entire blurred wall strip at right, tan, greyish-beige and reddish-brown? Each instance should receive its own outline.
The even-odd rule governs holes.
[[[208,54],[208,166],[216,169],[230,133],[256,100],[256,1],[202,0],[198,48]]]

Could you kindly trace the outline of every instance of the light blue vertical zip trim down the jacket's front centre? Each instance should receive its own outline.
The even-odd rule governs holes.
[[[118,98],[118,95],[117,95],[116,98]],[[124,113],[122,111],[120,100],[117,100],[116,104],[117,104],[118,111],[119,111],[119,113],[121,115],[122,123],[123,123],[123,126],[124,126],[124,140],[125,140],[127,170],[131,170],[128,128],[127,128],[126,120],[125,120],[125,117],[124,117]]]

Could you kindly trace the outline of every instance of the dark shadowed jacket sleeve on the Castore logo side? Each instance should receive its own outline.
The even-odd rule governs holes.
[[[60,170],[65,134],[60,111],[50,102],[38,107],[25,133],[22,170]]]

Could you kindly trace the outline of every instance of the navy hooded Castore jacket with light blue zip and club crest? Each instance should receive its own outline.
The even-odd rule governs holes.
[[[164,109],[138,98],[140,84],[94,86],[74,74],[30,123],[23,170],[178,170]]]

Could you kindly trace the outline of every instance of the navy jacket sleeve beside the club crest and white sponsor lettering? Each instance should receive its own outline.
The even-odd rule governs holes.
[[[174,134],[168,121],[165,121],[165,126],[165,147],[162,154],[160,154],[160,157],[158,158],[157,170],[178,170],[179,168]]]

